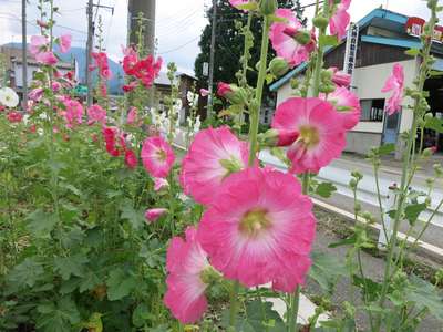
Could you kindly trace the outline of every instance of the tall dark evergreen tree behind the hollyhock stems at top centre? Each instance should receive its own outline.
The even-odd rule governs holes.
[[[216,32],[216,46],[215,46],[215,62],[214,62],[214,82],[228,82],[236,83],[235,74],[241,68],[240,59],[244,51],[244,35],[236,29],[236,21],[241,21],[246,24],[247,15],[241,11],[233,8],[227,0],[217,0],[217,32]],[[297,17],[302,23],[303,9],[300,6],[300,0],[278,0],[279,8],[289,8],[297,12]],[[203,75],[203,63],[209,62],[209,48],[210,48],[210,32],[212,32],[212,15],[213,8],[207,10],[209,23],[205,27],[199,41],[200,53],[195,61],[195,73],[198,79],[200,87],[207,86],[207,77]],[[251,31],[255,39],[254,48],[250,50],[251,60],[249,66],[255,68],[260,58],[260,40],[261,40],[261,20],[255,18],[251,23]],[[275,56],[270,52],[269,58]],[[257,73],[255,71],[248,72],[248,82],[251,86],[255,85]],[[265,96],[267,95],[265,91]]]

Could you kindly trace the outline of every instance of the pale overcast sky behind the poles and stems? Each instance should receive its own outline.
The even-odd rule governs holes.
[[[227,1],[227,0],[226,0]],[[37,34],[35,19],[38,0],[30,0],[28,11],[29,35]],[[55,34],[70,32],[73,44],[83,46],[86,41],[86,0],[54,0],[60,7],[61,15],[56,18]],[[99,0],[95,0],[95,3]],[[174,61],[181,71],[193,72],[194,60],[199,52],[198,40],[203,28],[207,23],[205,7],[210,0],[157,0],[156,37],[157,53],[166,62]],[[309,4],[315,0],[301,0]],[[101,9],[99,15],[103,19],[104,44],[111,58],[120,60],[121,44],[126,43],[127,0],[100,0],[101,4],[115,7],[114,15],[110,10]],[[380,6],[408,15],[429,18],[425,1],[423,0],[352,0],[352,21],[358,21],[372,9]],[[21,0],[0,0],[0,44],[21,41]],[[310,18],[312,10],[306,11]]]

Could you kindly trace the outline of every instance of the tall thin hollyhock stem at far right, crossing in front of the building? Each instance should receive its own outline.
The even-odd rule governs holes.
[[[429,31],[434,31],[436,21],[437,21],[436,11],[434,8],[432,10],[431,20],[429,23]],[[432,34],[432,32],[430,32],[430,34]],[[432,37],[427,35],[425,46],[424,46],[423,62],[422,62],[422,65],[420,68],[420,73],[419,73],[419,84],[416,85],[418,91],[420,93],[423,92],[424,82],[426,80],[426,74],[427,74],[427,70],[429,70],[429,64],[427,64],[426,60],[429,59],[429,56],[431,54],[431,46],[432,46]],[[401,215],[402,215],[402,211],[404,208],[404,203],[405,203],[406,196],[408,196],[408,175],[410,172],[411,154],[412,154],[412,148],[414,145],[416,129],[418,129],[418,120],[419,120],[418,115],[419,115],[420,102],[421,102],[421,96],[415,97],[414,107],[413,107],[412,128],[411,128],[410,135],[408,137],[406,149],[404,151],[404,154],[403,154],[403,169],[402,169],[399,203],[396,206],[394,227],[393,227],[391,240],[388,243],[389,251],[388,251],[388,258],[387,258],[387,266],[384,268],[383,286],[382,286],[380,301],[379,301],[379,305],[381,308],[384,308],[384,302],[385,302],[385,298],[387,298],[387,293],[388,293],[388,289],[389,289],[389,284],[390,284],[389,281],[392,276],[391,266],[392,266],[393,256],[394,256],[394,251],[395,251],[394,249],[396,247],[396,240],[398,240],[396,236],[398,236],[399,228],[400,228]],[[395,269],[395,266],[393,268]],[[380,326],[381,326],[381,315],[379,315],[377,319],[375,331],[380,331]]]

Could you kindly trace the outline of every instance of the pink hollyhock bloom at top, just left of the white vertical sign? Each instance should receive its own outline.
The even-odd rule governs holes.
[[[290,9],[277,9],[275,14],[287,20],[287,22],[275,22],[270,27],[269,38],[277,55],[284,58],[290,66],[307,61],[315,50],[315,44],[312,40],[303,45],[296,41],[295,38],[303,29],[296,14]]]

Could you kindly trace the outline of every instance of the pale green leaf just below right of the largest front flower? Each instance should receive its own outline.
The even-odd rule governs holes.
[[[327,252],[313,251],[311,255],[312,267],[309,277],[316,280],[320,287],[331,292],[340,277],[348,276],[348,269],[337,256]]]

